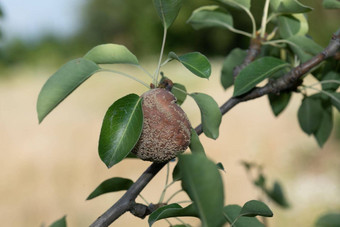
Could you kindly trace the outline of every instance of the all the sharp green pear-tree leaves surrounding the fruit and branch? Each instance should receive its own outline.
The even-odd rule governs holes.
[[[208,59],[199,52],[181,55],[169,52],[166,59],[163,59],[167,30],[176,19],[182,1],[154,0],[153,3],[163,26],[163,41],[154,73],[151,74],[145,70],[139,64],[137,57],[122,45],[96,46],[82,58],[66,63],[47,80],[38,97],[39,122],[97,72],[107,71],[126,76],[147,88],[153,88],[162,86],[162,82],[168,79],[161,72],[161,68],[175,60],[200,78],[208,79],[210,77],[211,65]],[[222,27],[250,38],[249,50],[235,48],[223,63],[221,83],[225,89],[234,85],[234,99],[249,94],[263,81],[270,84],[283,78],[287,72],[292,72],[291,69],[296,69],[299,64],[310,61],[323,50],[307,35],[308,23],[305,13],[312,10],[310,7],[297,0],[266,0],[261,26],[257,28],[258,23],[250,11],[252,3],[251,0],[215,0],[215,5],[203,6],[195,10],[188,20],[188,23],[195,29]],[[336,3],[331,0],[324,1],[324,6],[339,8]],[[249,23],[252,26],[251,32],[234,26],[233,17],[228,12],[230,7],[244,11],[248,15]],[[255,48],[255,46],[257,47]],[[146,82],[135,76],[108,69],[106,68],[107,64],[129,64],[137,67],[151,80],[151,86],[149,87]],[[308,135],[314,135],[320,146],[326,142],[332,130],[332,108],[340,109],[340,96],[337,92],[340,85],[339,68],[339,62],[334,59],[329,59],[323,65],[313,68],[312,75],[319,81],[317,85],[321,85],[321,89],[315,88],[315,85],[305,85],[303,81],[301,83],[295,81],[296,84],[293,88],[268,95],[272,110],[275,116],[278,116],[288,105],[293,92],[302,94],[303,99],[298,110],[300,126]],[[307,89],[317,90],[318,93],[308,95]],[[222,114],[216,101],[207,94],[188,93],[186,87],[180,83],[173,84],[172,92],[177,98],[178,105],[181,105],[187,96],[193,98],[201,113],[201,132],[209,138],[217,139]],[[99,138],[99,156],[108,168],[131,157],[131,151],[143,130],[142,103],[143,99],[140,96],[128,94],[116,100],[106,112]],[[159,208],[150,212],[149,225],[151,226],[162,219],[191,216],[199,218],[202,226],[206,227],[218,227],[227,222],[231,226],[240,227],[264,226],[256,216],[272,217],[273,213],[263,202],[251,200],[242,207],[225,204],[225,190],[220,175],[220,170],[224,171],[224,167],[222,163],[216,164],[207,158],[199,140],[199,134],[198,130],[191,130],[189,147],[192,154],[178,157],[171,183],[168,183],[168,164],[166,185],[157,204]],[[275,182],[271,187],[268,187],[260,166],[247,162],[243,164],[247,172],[254,169],[258,172],[253,183],[268,198],[281,207],[289,206],[280,183]],[[185,191],[190,199],[187,201],[189,204],[185,207],[179,203],[170,203],[176,193],[170,196],[167,201],[163,201],[166,189],[175,182],[181,183],[181,191]],[[88,199],[109,192],[130,190],[133,185],[134,183],[130,179],[114,177],[102,182],[88,196]],[[128,202],[133,204],[134,201]],[[147,209],[150,204],[140,206]],[[324,219],[333,220],[334,215],[321,218],[318,223],[323,223]],[[64,221],[65,219],[60,220],[63,223]],[[182,224],[186,225],[184,222]]]

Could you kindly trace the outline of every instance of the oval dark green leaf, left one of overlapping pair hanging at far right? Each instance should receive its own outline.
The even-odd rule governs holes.
[[[304,98],[298,110],[301,129],[308,135],[316,132],[321,122],[322,112],[320,99]]]

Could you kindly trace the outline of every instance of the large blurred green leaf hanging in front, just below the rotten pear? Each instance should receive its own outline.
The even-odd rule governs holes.
[[[182,188],[187,192],[202,226],[217,227],[223,217],[223,183],[217,166],[204,155],[180,155],[178,165]]]

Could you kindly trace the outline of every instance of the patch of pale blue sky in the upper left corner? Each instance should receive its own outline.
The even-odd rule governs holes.
[[[42,34],[61,37],[78,28],[81,0],[0,0],[4,17],[0,21],[5,40],[35,39]]]

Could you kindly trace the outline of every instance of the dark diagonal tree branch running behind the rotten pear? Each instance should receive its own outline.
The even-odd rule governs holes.
[[[222,115],[226,114],[238,103],[245,102],[251,99],[259,98],[266,94],[278,94],[285,90],[292,90],[298,86],[299,79],[316,67],[319,63],[328,57],[332,57],[337,53],[340,47],[340,29],[332,36],[329,45],[318,55],[314,56],[309,61],[295,67],[284,76],[268,82],[263,87],[254,88],[248,93],[230,98],[221,107]],[[195,128],[198,135],[202,134],[202,124]],[[119,218],[126,211],[133,210],[136,205],[135,199],[144,187],[151,181],[151,179],[164,167],[166,163],[152,163],[150,167],[138,178],[138,180],[126,191],[126,193],[103,215],[101,215],[91,227],[106,227],[114,220]],[[138,216],[138,215],[137,215]],[[144,216],[145,217],[145,216]]]

